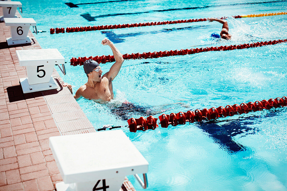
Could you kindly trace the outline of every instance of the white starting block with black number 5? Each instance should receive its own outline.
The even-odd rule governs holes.
[[[20,66],[26,66],[26,78],[20,83],[23,93],[57,89],[57,83],[51,77],[54,65],[62,65],[61,71],[66,74],[65,59],[58,49],[16,50]]]

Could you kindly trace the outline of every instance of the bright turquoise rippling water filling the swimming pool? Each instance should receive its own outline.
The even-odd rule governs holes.
[[[69,1],[22,2],[23,17],[37,22],[42,48],[57,48],[72,57],[112,54],[100,44],[109,37],[122,54],[225,46],[287,38],[287,15],[227,19],[232,40],[210,40],[216,22],[197,22],[104,31],[49,33],[50,28],[185,20],[286,11],[287,1]],[[184,9],[192,8],[193,9]],[[194,8],[198,7],[198,8]],[[173,9],[173,10],[169,10]],[[84,15],[84,16],[81,16]],[[89,16],[90,15],[90,16]],[[88,21],[87,20],[91,20]],[[192,46],[192,47],[191,47]],[[128,60],[113,81],[115,99],[79,105],[96,129],[127,125],[112,112],[125,100],[152,111],[196,110],[286,95],[287,44],[243,50],[203,52],[158,59]],[[107,72],[112,63],[101,64]],[[82,67],[66,65],[64,81],[73,93],[86,82]],[[128,117],[143,113],[127,110]],[[150,163],[147,190],[287,190],[287,108],[264,110],[215,121],[129,132]],[[160,114],[155,115],[158,117]],[[144,116],[147,117],[147,116]],[[129,177],[136,190],[141,187]]]

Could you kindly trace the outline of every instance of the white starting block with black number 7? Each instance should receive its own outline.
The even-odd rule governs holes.
[[[4,18],[18,18],[15,15],[17,7],[19,7],[22,13],[22,3],[20,1],[0,1],[0,7],[3,9],[3,16],[0,17],[0,21],[4,21]]]

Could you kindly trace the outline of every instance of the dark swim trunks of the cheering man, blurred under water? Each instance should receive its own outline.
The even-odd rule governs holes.
[[[120,106],[110,108],[110,110],[115,116],[120,117],[122,120],[128,120],[132,117],[135,117],[135,115],[141,115],[141,116],[150,115],[150,107],[137,106],[129,102],[124,102]]]

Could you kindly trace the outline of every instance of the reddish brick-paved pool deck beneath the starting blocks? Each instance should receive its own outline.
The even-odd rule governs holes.
[[[26,70],[19,65],[15,51],[41,47],[31,31],[32,44],[8,47],[10,27],[3,22],[0,25],[0,191],[55,190],[62,177],[49,137],[96,130],[61,85],[63,80],[55,69],[52,77],[58,89],[23,94],[19,79],[26,77]],[[121,190],[134,188],[126,179]]]

